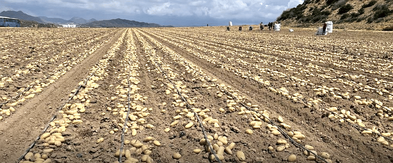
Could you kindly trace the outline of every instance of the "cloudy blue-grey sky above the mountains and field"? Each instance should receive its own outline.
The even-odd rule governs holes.
[[[31,16],[122,18],[160,25],[210,26],[264,24],[304,0],[0,0],[1,11]]]

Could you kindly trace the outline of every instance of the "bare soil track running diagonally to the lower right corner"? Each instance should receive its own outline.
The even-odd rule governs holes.
[[[304,109],[302,104],[293,104],[287,99],[282,100],[282,97],[272,95],[271,92],[260,89],[261,87],[255,83],[250,83],[248,80],[244,80],[233,74],[228,74],[225,70],[189,54],[185,49],[174,46],[146,31],[144,31],[144,33],[157,39],[162,44],[168,46],[178,54],[181,54],[184,58],[200,66],[205,70],[207,75],[215,76],[219,81],[227,81],[229,85],[238,88],[240,92],[247,93],[249,97],[253,97],[250,98],[250,100],[254,103],[263,104],[262,106],[267,108],[274,108],[275,112],[284,115],[286,119],[290,119],[303,129],[308,129],[303,130],[310,141],[307,143],[313,147],[317,147],[321,151],[333,150],[334,152],[330,152],[333,159],[347,163],[351,161],[354,163],[369,163],[373,161],[390,162],[389,157],[386,156],[385,149],[380,147],[380,145],[375,146],[375,142],[371,142],[368,137],[365,138],[361,136],[359,131],[352,128],[350,125],[340,125],[336,122],[330,122],[330,120],[326,118],[321,119],[320,114],[309,112],[308,109]],[[204,53],[203,51],[200,52]],[[333,124],[328,125],[331,123]],[[352,158],[352,160],[347,160],[347,158]]]

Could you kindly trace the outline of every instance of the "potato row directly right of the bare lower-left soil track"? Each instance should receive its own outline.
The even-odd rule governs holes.
[[[86,111],[85,106],[90,106],[90,98],[92,98],[90,95],[88,95],[88,93],[94,89],[97,89],[99,87],[97,81],[103,80],[104,76],[106,76],[105,69],[108,65],[108,60],[115,56],[115,52],[120,46],[123,37],[124,33],[103,56],[104,59],[101,59],[97,65],[94,65],[92,68],[90,68],[90,76],[78,83],[78,85],[84,85],[84,87],[81,87],[83,89],[79,90],[76,95],[75,93],[77,89],[71,91],[71,94],[69,94],[71,101],[63,106],[63,108],[58,113],[60,114],[60,117],[55,118],[50,122],[50,128],[47,129],[45,133],[40,135],[39,141],[36,142],[36,147],[43,149],[38,150],[39,152],[37,153],[27,153],[24,156],[23,163],[51,163],[51,153],[60,150],[56,148],[67,146],[63,145],[66,139],[62,135],[62,132],[66,131],[67,127],[70,125],[84,123],[83,116]],[[98,140],[98,142],[99,141],[100,140]],[[41,158],[38,156],[41,156]]]

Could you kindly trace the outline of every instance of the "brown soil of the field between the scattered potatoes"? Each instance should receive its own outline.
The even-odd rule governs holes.
[[[22,31],[12,29],[7,32],[30,32],[23,30],[25,29]],[[38,32],[44,35],[54,32],[60,35],[66,34],[63,31],[53,30],[56,29]],[[237,151],[244,152],[244,162],[248,163],[287,162],[287,158],[291,154],[297,156],[297,163],[315,162],[308,161],[308,157],[303,154],[303,148],[290,143],[291,138],[286,138],[283,134],[274,136],[272,130],[268,128],[271,123],[262,120],[261,128],[253,129],[250,122],[255,120],[257,115],[248,112],[241,113],[243,108],[241,108],[240,102],[258,105],[254,107],[262,112],[266,110],[274,124],[279,124],[277,120],[279,116],[283,117],[284,123],[290,125],[290,128],[279,126],[285,131],[284,133],[301,131],[306,138],[299,141],[299,144],[314,147],[319,155],[321,152],[329,153],[330,160],[326,160],[326,162],[393,162],[393,158],[390,156],[393,147],[379,143],[377,141],[379,136],[361,134],[363,129],[354,127],[347,122],[342,123],[340,118],[328,118],[329,112],[323,110],[323,108],[337,107],[340,112],[344,109],[350,111],[350,114],[355,115],[357,119],[361,119],[367,129],[375,127],[381,133],[393,132],[393,125],[391,121],[388,121],[388,118],[392,117],[391,112],[382,111],[383,116],[387,115],[387,117],[379,117],[377,113],[380,113],[378,110],[381,109],[377,108],[375,103],[359,105],[354,97],[357,95],[361,98],[377,99],[383,102],[383,106],[393,107],[392,96],[389,96],[392,93],[379,95],[373,89],[361,91],[366,89],[364,85],[378,90],[393,91],[393,84],[389,84],[392,82],[393,72],[391,68],[387,68],[392,65],[392,33],[335,30],[334,33],[325,36],[316,36],[314,29],[304,28],[294,28],[295,32],[290,33],[287,28],[283,28],[281,32],[266,30],[226,32],[224,27],[105,30],[107,31],[94,31],[96,35],[91,37],[78,36],[78,33],[86,34],[85,29],[68,31],[70,33],[67,36],[70,40],[80,38],[75,42],[75,45],[84,44],[84,42],[97,37],[101,44],[98,42],[91,42],[91,44],[101,46],[76,65],[71,64],[72,69],[67,70],[48,87],[44,87],[42,93],[14,106],[16,111],[10,116],[1,115],[3,120],[0,121],[0,140],[3,141],[0,143],[0,163],[16,162],[34,139],[41,135],[53,115],[56,115],[55,120],[68,120],[63,117],[63,114],[58,114],[56,111],[68,100],[68,94],[78,88],[80,81],[84,81],[94,73],[100,73],[91,69],[95,65],[100,65],[105,73],[103,75],[94,74],[94,76],[100,77],[95,80],[99,86],[87,92],[87,95],[90,96],[90,103],[85,106],[86,111],[80,113],[83,123],[69,124],[67,130],[62,132],[65,141],[61,146],[45,145],[46,141],[38,140],[29,152],[41,155],[48,154],[52,163],[115,163],[118,161],[119,158],[115,156],[115,153],[120,149],[122,128],[119,124],[123,123],[123,119],[122,112],[113,109],[119,108],[120,110],[119,104],[123,104],[127,108],[127,100],[119,98],[122,89],[120,86],[126,85],[124,84],[127,81],[126,75],[132,72],[130,74],[140,81],[133,84],[139,88],[133,95],[139,94],[146,99],[133,98],[130,102],[147,108],[147,110],[136,111],[133,109],[131,111],[131,114],[139,116],[138,118],[143,117],[144,122],[135,122],[138,125],[135,136],[132,136],[131,127],[129,127],[130,131],[124,134],[124,140],[131,142],[138,140],[145,146],[136,149],[133,148],[133,143],[126,143],[124,150],[129,149],[131,157],[139,162],[143,157],[147,157],[145,154],[149,151],[151,153],[147,155],[155,163],[213,162],[209,159],[211,153],[206,152],[205,147],[200,145],[200,140],[204,138],[203,129],[198,125],[197,120],[186,117],[185,107],[178,106],[180,102],[174,102],[179,98],[174,98],[172,95],[176,92],[170,88],[171,83],[168,78],[173,82],[181,81],[182,85],[187,85],[182,88],[187,90],[187,93],[183,93],[189,97],[188,99],[195,100],[195,104],[191,105],[193,108],[208,109],[206,115],[199,114],[199,117],[211,117],[218,120],[218,127],[209,123],[203,125],[207,135],[217,134],[227,137],[228,144],[223,145],[224,147],[230,143],[236,144],[232,149],[232,155],[223,154],[222,163],[241,163],[242,160],[236,156]],[[30,35],[24,39],[32,38],[36,38],[36,35]],[[49,38],[48,40],[60,40],[60,38]],[[130,42],[130,40],[133,41]],[[41,44],[52,45],[53,43],[49,41]],[[64,42],[59,46],[63,46],[63,49],[73,49],[71,46],[66,48],[66,45],[70,44]],[[41,73],[27,74],[28,79],[23,78],[8,83],[8,87],[1,88],[0,96],[6,95],[8,98],[12,98],[19,89],[23,90],[22,88],[34,80],[42,80],[46,74],[57,70],[57,65],[67,61],[67,59],[63,59],[64,57],[59,57],[58,60],[55,60],[55,64],[46,62],[50,59],[41,62],[40,58],[51,57],[51,53],[44,51],[41,57],[33,56],[32,60],[25,61],[22,56],[28,51],[22,51],[21,55],[16,55],[17,45],[24,45],[23,39],[13,40],[8,45],[0,45],[1,47],[7,46],[2,50],[7,49],[9,55],[17,56],[12,60],[1,60],[1,67],[13,64],[16,66],[1,69],[1,72],[4,72],[2,74],[7,74],[2,77],[15,76],[15,69],[23,69],[33,62],[38,63],[35,65],[45,65],[48,68],[42,70]],[[36,45],[36,49],[41,49],[44,46]],[[78,57],[78,54],[75,53],[80,53],[82,51],[80,49],[87,51],[88,46],[92,45],[85,44],[85,46],[75,48],[77,51],[73,53],[75,56],[70,57]],[[45,51],[54,49],[56,48],[49,48]],[[130,56],[133,54],[136,54],[137,58],[128,62],[129,58],[132,59]],[[103,61],[107,61],[107,65]],[[137,68],[128,71],[129,63],[137,65]],[[161,67],[164,71],[161,70]],[[195,73],[190,71],[190,67],[194,69]],[[165,73],[171,76],[167,77],[164,75]],[[358,78],[347,77],[345,74],[358,76]],[[201,80],[200,75],[215,78],[217,81]],[[364,76],[359,77],[360,75]],[[37,79],[33,79],[34,76]],[[256,76],[263,81],[270,81],[270,85],[253,80]],[[328,77],[332,79],[328,79]],[[375,78],[378,83],[374,80]],[[17,78],[15,77],[15,79]],[[300,79],[300,81],[296,79]],[[353,81],[358,85],[362,83],[363,87],[350,86],[338,82],[338,79]],[[205,86],[215,83],[231,87],[211,86],[207,88]],[[15,89],[14,85],[18,88]],[[326,94],[316,94],[314,89],[320,88],[318,86],[337,89],[332,89]],[[288,99],[272,92],[270,87],[275,89],[285,87],[290,95],[300,93],[304,96],[302,98],[304,101],[302,102],[300,98],[299,101]],[[242,96],[243,99],[233,105],[235,111],[231,111],[228,107],[230,100],[228,95],[217,96],[223,89],[233,90]],[[167,94],[167,90],[171,90],[171,93]],[[331,92],[334,92],[335,95],[349,92],[349,98],[338,99]],[[118,98],[114,99],[113,97]],[[320,99],[322,102],[308,107],[309,98]],[[167,104],[164,105],[164,102]],[[68,103],[83,102],[80,99],[72,99]],[[112,110],[108,110],[108,107]],[[0,109],[9,108],[10,106],[6,104]],[[220,108],[224,109],[224,112],[220,112]],[[163,113],[163,110],[166,112]],[[147,116],[142,116],[142,112],[148,113]],[[178,119],[178,124],[171,127],[170,124],[174,121],[173,117],[179,114],[182,117]],[[263,119],[263,117],[261,118]],[[131,123],[131,119],[128,122]],[[185,125],[189,122],[193,122],[193,126],[185,129]],[[150,128],[148,124],[154,127]],[[56,127],[59,125],[56,124],[51,128]],[[164,131],[166,128],[171,130],[166,132]],[[247,129],[253,129],[253,134],[245,133]],[[161,145],[154,145],[153,140],[144,142],[144,138],[148,136],[152,136]],[[97,143],[100,138],[103,138],[103,142]],[[283,151],[276,151],[276,147],[280,146],[276,144],[279,139],[288,142]],[[391,139],[391,136],[385,138],[389,145],[393,144]],[[216,139],[211,142],[215,145],[222,144]],[[271,150],[269,147],[274,149]],[[44,150],[49,148],[53,149],[53,152],[44,153]],[[197,154],[193,152],[194,149],[202,149],[202,151]],[[172,154],[175,152],[180,153],[182,158],[173,159]],[[27,159],[38,162],[36,158]],[[125,160],[127,158],[123,156],[122,161]],[[21,162],[28,163],[27,160]],[[317,162],[322,163],[323,161],[317,160]]]

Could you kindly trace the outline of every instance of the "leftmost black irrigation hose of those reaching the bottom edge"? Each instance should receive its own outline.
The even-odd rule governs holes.
[[[64,104],[62,104],[62,105],[56,110],[56,113],[52,116],[51,120],[47,123],[47,125],[46,125],[45,128],[44,128],[44,130],[38,135],[37,138],[34,139],[34,142],[26,149],[26,151],[23,153],[23,155],[18,159],[18,161],[17,161],[16,163],[19,163],[19,162],[25,157],[25,155],[26,155],[27,153],[29,153],[30,149],[32,149],[32,148],[34,147],[35,143],[36,143],[37,140],[41,137],[41,135],[44,134],[44,133],[46,132],[46,130],[48,130],[48,128],[49,128],[49,126],[50,126],[50,123],[54,120],[54,118],[56,118],[57,113],[58,113],[61,109],[63,109],[63,107],[66,106],[66,104],[67,104],[69,101],[71,101],[72,98],[73,98],[76,94],[78,94],[79,90],[81,90],[81,88],[84,87],[84,85],[87,84],[87,81],[90,80],[90,78],[94,75],[94,73],[95,73],[98,69],[100,69],[100,65],[98,65],[98,68],[97,68],[89,77],[87,77],[86,81],[85,81],[83,84],[81,84],[81,85],[78,86],[78,89],[75,91],[75,93],[74,93],[70,98],[68,98],[68,100],[67,100]]]

